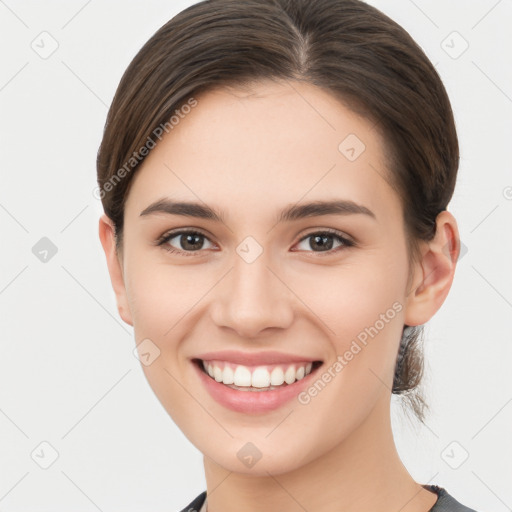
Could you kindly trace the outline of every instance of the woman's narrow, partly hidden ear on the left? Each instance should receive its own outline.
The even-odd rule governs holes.
[[[118,254],[115,244],[115,229],[112,220],[105,214],[99,220],[99,235],[101,245],[107,258],[110,282],[116,294],[117,310],[121,318],[129,325],[133,325],[126,288],[123,277],[122,257]]]

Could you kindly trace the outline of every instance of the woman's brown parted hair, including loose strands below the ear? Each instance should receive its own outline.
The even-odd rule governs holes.
[[[260,80],[300,80],[371,119],[388,143],[409,261],[435,235],[455,187],[459,148],[445,88],[397,23],[359,0],[210,0],[183,10],[125,71],[98,151],[98,186],[122,249],[124,204],[143,147],[193,95]],[[160,137],[158,137],[160,138]],[[340,141],[341,142],[341,141]],[[130,166],[127,166],[130,162]],[[404,326],[392,392],[424,421],[423,326]]]

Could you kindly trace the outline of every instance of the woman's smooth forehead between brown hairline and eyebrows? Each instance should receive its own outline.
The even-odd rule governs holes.
[[[375,203],[392,193],[373,125],[317,87],[293,87],[199,96],[146,157],[133,190],[146,203],[164,191],[256,204],[305,195]]]

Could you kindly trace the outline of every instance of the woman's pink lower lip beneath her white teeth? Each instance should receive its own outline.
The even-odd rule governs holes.
[[[202,365],[202,362],[199,364]],[[246,414],[273,411],[293,400],[304,388],[309,386],[310,381],[316,375],[318,368],[320,368],[319,366],[306,375],[306,377],[296,380],[293,384],[288,384],[271,391],[238,391],[212,379],[201,370],[197,362],[194,361],[193,365],[199,373],[199,378],[214,400],[232,411]]]

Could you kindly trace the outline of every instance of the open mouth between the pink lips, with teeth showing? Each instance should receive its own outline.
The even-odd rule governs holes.
[[[218,384],[236,391],[259,393],[293,386],[323,364],[322,361],[294,361],[242,365],[215,359],[193,359],[192,362],[199,371]]]

